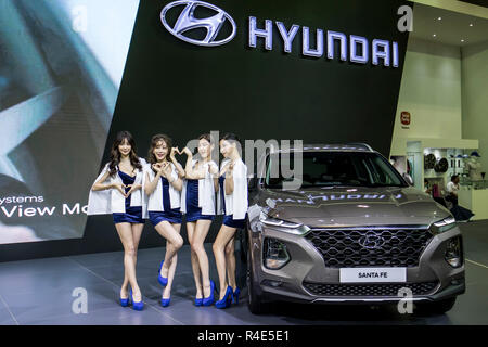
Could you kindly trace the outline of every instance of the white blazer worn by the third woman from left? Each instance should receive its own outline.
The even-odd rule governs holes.
[[[192,160],[192,167],[195,166],[196,162],[196,159]],[[208,172],[209,166],[218,169],[214,160],[204,164],[205,178],[198,180],[198,207],[202,208],[202,215],[215,215],[215,188],[214,178]],[[183,189],[181,190],[181,211],[187,213],[187,180],[183,180]]]

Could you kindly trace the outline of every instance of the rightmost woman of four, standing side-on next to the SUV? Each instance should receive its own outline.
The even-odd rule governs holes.
[[[219,300],[215,303],[217,308],[229,307],[234,296],[236,287],[232,288],[228,283],[233,278],[233,285],[235,285],[235,273],[229,275],[228,282],[229,257],[226,258],[224,249],[233,242],[236,230],[244,228],[247,218],[247,167],[241,159],[237,144],[239,139],[233,133],[227,133],[220,139],[220,153],[224,160],[221,164],[218,179],[217,208],[224,216],[222,227],[213,246],[220,282]],[[233,272],[235,272],[235,267]]]

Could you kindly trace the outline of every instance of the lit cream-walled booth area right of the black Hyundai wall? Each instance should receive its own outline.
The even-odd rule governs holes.
[[[488,28],[463,11],[415,4],[414,15],[390,159],[436,198],[459,175],[459,204],[488,219]]]

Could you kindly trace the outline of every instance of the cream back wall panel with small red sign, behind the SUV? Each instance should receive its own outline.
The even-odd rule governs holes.
[[[402,111],[411,114],[410,129],[402,129]],[[461,49],[410,38],[393,142],[403,138],[461,139]]]

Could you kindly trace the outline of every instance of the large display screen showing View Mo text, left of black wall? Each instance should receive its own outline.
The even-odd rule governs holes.
[[[138,7],[0,2],[0,244],[82,236]]]

